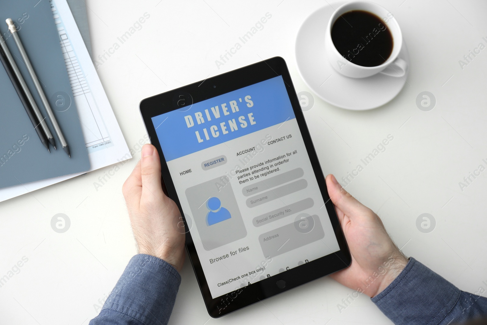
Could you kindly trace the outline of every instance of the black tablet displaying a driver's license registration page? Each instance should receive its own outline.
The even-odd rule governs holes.
[[[283,58],[146,98],[140,111],[210,316],[350,265]]]

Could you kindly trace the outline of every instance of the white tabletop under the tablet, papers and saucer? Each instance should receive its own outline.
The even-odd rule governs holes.
[[[487,167],[487,49],[463,69],[458,62],[480,42],[487,45],[487,2],[377,2],[401,24],[411,55],[408,83],[393,101],[365,112],[315,96],[305,116],[322,169],[340,179],[392,134],[387,150],[347,190],[380,215],[405,254],[463,290],[487,289],[487,171],[463,191],[459,186],[480,164]],[[150,15],[98,69],[137,153],[97,190],[94,182],[112,167],[0,204],[0,277],[28,259],[0,287],[1,324],[86,325],[136,253],[121,187],[140,158],[139,140],[145,142],[141,99],[274,56],[286,59],[298,92],[311,92],[297,71],[294,43],[302,21],[326,1],[116,3],[87,1],[95,57]],[[218,69],[215,60],[267,12],[272,19],[264,29]],[[415,104],[423,91],[436,98],[429,112]],[[425,212],[436,220],[430,233],[416,228]],[[69,216],[67,232],[51,229],[56,213]],[[365,296],[340,313],[337,304],[353,290],[328,277],[210,319],[188,261],[182,278],[170,324],[391,324]]]

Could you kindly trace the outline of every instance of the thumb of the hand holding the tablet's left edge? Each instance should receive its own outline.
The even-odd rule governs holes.
[[[145,144],[142,147],[141,159],[141,177],[142,177],[142,197],[157,198],[162,197],[161,187],[161,161],[155,147],[151,144]]]

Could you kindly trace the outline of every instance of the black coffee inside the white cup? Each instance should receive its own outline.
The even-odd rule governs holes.
[[[331,32],[338,52],[350,62],[364,67],[381,65],[393,51],[394,41],[389,28],[368,11],[344,13],[335,21]]]

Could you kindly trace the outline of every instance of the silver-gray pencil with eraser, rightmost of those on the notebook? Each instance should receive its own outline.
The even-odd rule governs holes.
[[[29,71],[29,75],[32,78],[32,81],[34,81],[34,86],[36,86],[37,93],[40,96],[40,100],[42,101],[42,104],[46,108],[47,116],[49,116],[49,119],[51,120],[51,123],[53,124],[54,131],[56,131],[57,138],[59,139],[59,142],[61,143],[62,149],[68,154],[68,156],[71,158],[71,153],[69,151],[69,146],[68,143],[66,142],[66,139],[64,138],[64,134],[61,131],[61,128],[59,127],[59,124],[57,123],[56,116],[54,115],[53,110],[51,109],[51,105],[49,105],[49,101],[47,100],[46,94],[44,94],[44,91],[42,90],[42,86],[40,85],[39,79],[36,76],[36,72],[34,71],[34,68],[32,67],[32,64],[29,60],[29,57],[27,56],[27,53],[25,52],[25,49],[22,45],[22,42],[20,41],[18,32],[17,32],[17,27],[15,27],[14,21],[11,18],[8,18],[5,20],[8,25],[8,29],[10,33],[12,34],[12,37],[15,40],[15,43],[17,44],[17,47],[19,48],[20,56],[24,60],[25,66],[27,67],[27,70]]]

